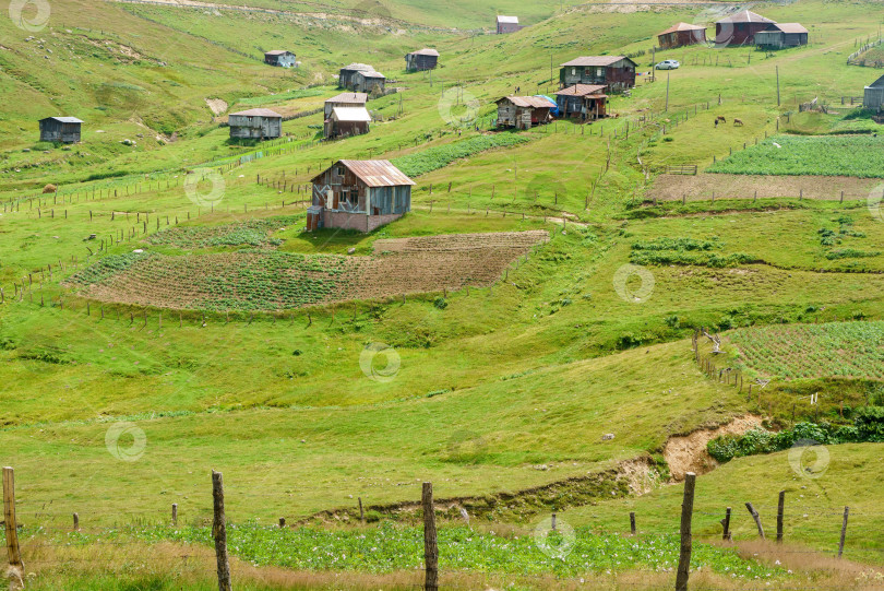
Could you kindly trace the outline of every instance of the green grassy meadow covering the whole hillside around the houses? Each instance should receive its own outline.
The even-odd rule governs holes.
[[[656,54],[659,31],[725,7],[244,5],[53,0],[39,31],[0,19],[0,460],[15,469],[28,589],[216,588],[212,470],[238,589],[414,588],[422,482],[446,499],[446,588],[670,587],[682,487],[668,462],[684,461],[671,438],[696,438],[684,453],[702,463],[704,429],[736,417],[847,425],[882,404],[876,189],[649,197],[685,164],[760,187],[874,185],[881,126],[841,105],[877,78],[845,63],[877,35],[873,4],[752,8],[805,24],[804,47]],[[488,34],[500,13],[528,26]],[[421,47],[441,54],[431,75],[405,71]],[[300,67],[265,66],[270,49]],[[635,56],[636,87],[609,99],[617,117],[491,131],[497,98],[554,93],[558,64],[578,55]],[[652,56],[682,67],[652,81]],[[397,90],[368,103],[370,133],[320,142],[315,114],[286,120],[279,140],[229,139],[229,113],[321,108],[351,61]],[[798,111],[814,97],[828,113]],[[86,121],[83,141],[38,142],[37,119],[55,115]],[[391,159],[416,181],[411,211],[367,235],[303,232],[310,179],[341,158]],[[490,285],[476,259],[459,288],[323,303],[351,281],[335,265],[383,257],[379,240],[456,249],[457,234],[528,231],[549,241]],[[439,264],[420,261],[427,275]],[[174,304],[109,297],[112,282]],[[703,371],[700,327],[725,352],[701,338],[701,355],[745,385]],[[706,464],[696,589],[880,587],[881,445],[828,446],[816,478],[790,453]],[[743,506],[769,539],[779,490],[775,546]],[[534,540],[553,511],[575,529],[563,559]]]

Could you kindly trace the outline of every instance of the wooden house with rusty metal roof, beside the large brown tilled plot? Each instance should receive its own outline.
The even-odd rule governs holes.
[[[411,210],[415,181],[390,161],[338,161],[312,179],[307,229],[371,232]]]

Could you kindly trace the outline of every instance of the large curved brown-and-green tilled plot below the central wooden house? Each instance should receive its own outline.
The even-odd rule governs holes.
[[[272,245],[278,218],[160,233],[160,244]],[[246,228],[246,229],[243,229]],[[163,236],[167,234],[167,236]],[[101,302],[174,309],[282,310],[348,299],[489,285],[504,268],[549,239],[543,231],[382,239],[371,257],[239,250],[169,257],[112,255],[69,284]]]

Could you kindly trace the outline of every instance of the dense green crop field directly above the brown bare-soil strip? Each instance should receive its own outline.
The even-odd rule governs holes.
[[[706,172],[884,178],[884,137],[777,135],[713,164]]]

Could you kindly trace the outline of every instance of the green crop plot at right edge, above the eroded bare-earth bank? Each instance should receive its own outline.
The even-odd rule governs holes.
[[[884,379],[884,322],[739,329],[728,334],[748,368],[783,379]]]

